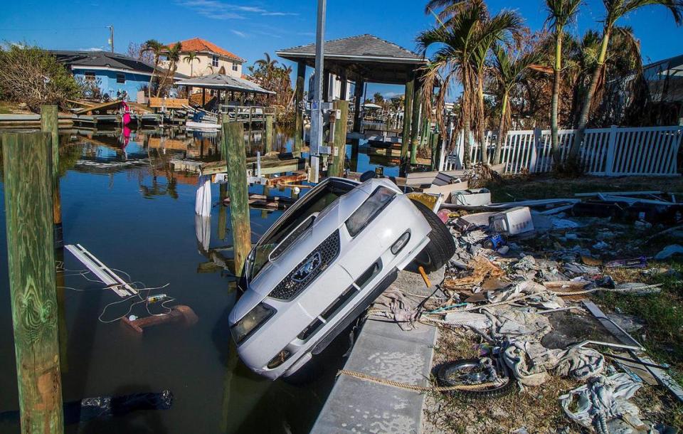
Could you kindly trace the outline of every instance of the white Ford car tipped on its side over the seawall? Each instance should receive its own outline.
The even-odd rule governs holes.
[[[415,260],[440,268],[452,235],[388,179],[328,178],[263,235],[230,314],[240,359],[269,379],[290,376],[359,317]]]

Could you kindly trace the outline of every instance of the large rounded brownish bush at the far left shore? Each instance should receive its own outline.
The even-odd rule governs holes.
[[[36,46],[14,44],[0,48],[0,94],[37,112],[41,104],[63,106],[80,96],[80,88],[55,56]]]

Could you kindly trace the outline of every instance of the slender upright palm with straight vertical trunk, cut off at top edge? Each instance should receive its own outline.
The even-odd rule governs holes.
[[[553,97],[551,102],[550,128],[551,128],[551,146],[553,152],[553,160],[556,164],[560,164],[560,144],[558,139],[558,106],[560,98],[560,86],[562,82],[562,39],[564,36],[564,27],[569,23],[578,12],[578,6],[581,0],[546,0],[546,9],[548,9],[548,18],[546,22],[550,24],[553,37],[555,39],[555,58],[553,62]]]

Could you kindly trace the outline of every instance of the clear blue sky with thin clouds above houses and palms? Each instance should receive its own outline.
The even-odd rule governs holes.
[[[329,0],[326,39],[372,33],[408,48],[415,36],[433,23],[423,13],[421,0]],[[544,0],[489,0],[492,11],[517,9],[526,25],[544,25]],[[43,48],[108,49],[107,26],[115,28],[115,49],[125,53],[129,42],[155,38],[165,43],[205,38],[248,60],[248,65],[280,48],[314,41],[315,0],[280,1],[5,1],[0,13],[0,41],[36,43]],[[601,0],[585,0],[571,31],[581,34],[598,28]],[[668,11],[648,6],[621,25],[634,28],[645,63],[683,53],[683,27]],[[369,94],[401,92],[397,86],[371,86]]]

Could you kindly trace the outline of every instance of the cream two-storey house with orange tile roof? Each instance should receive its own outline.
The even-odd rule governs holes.
[[[176,65],[176,70],[179,73],[188,77],[218,73],[232,75],[233,77],[242,76],[242,64],[246,60],[217,46],[215,43],[201,38],[192,38],[181,41],[180,44],[180,61]],[[171,43],[167,47],[172,48],[175,45],[175,43]],[[191,52],[196,54],[196,60],[188,63],[185,58]],[[163,65],[168,67],[167,62],[164,62]]]

